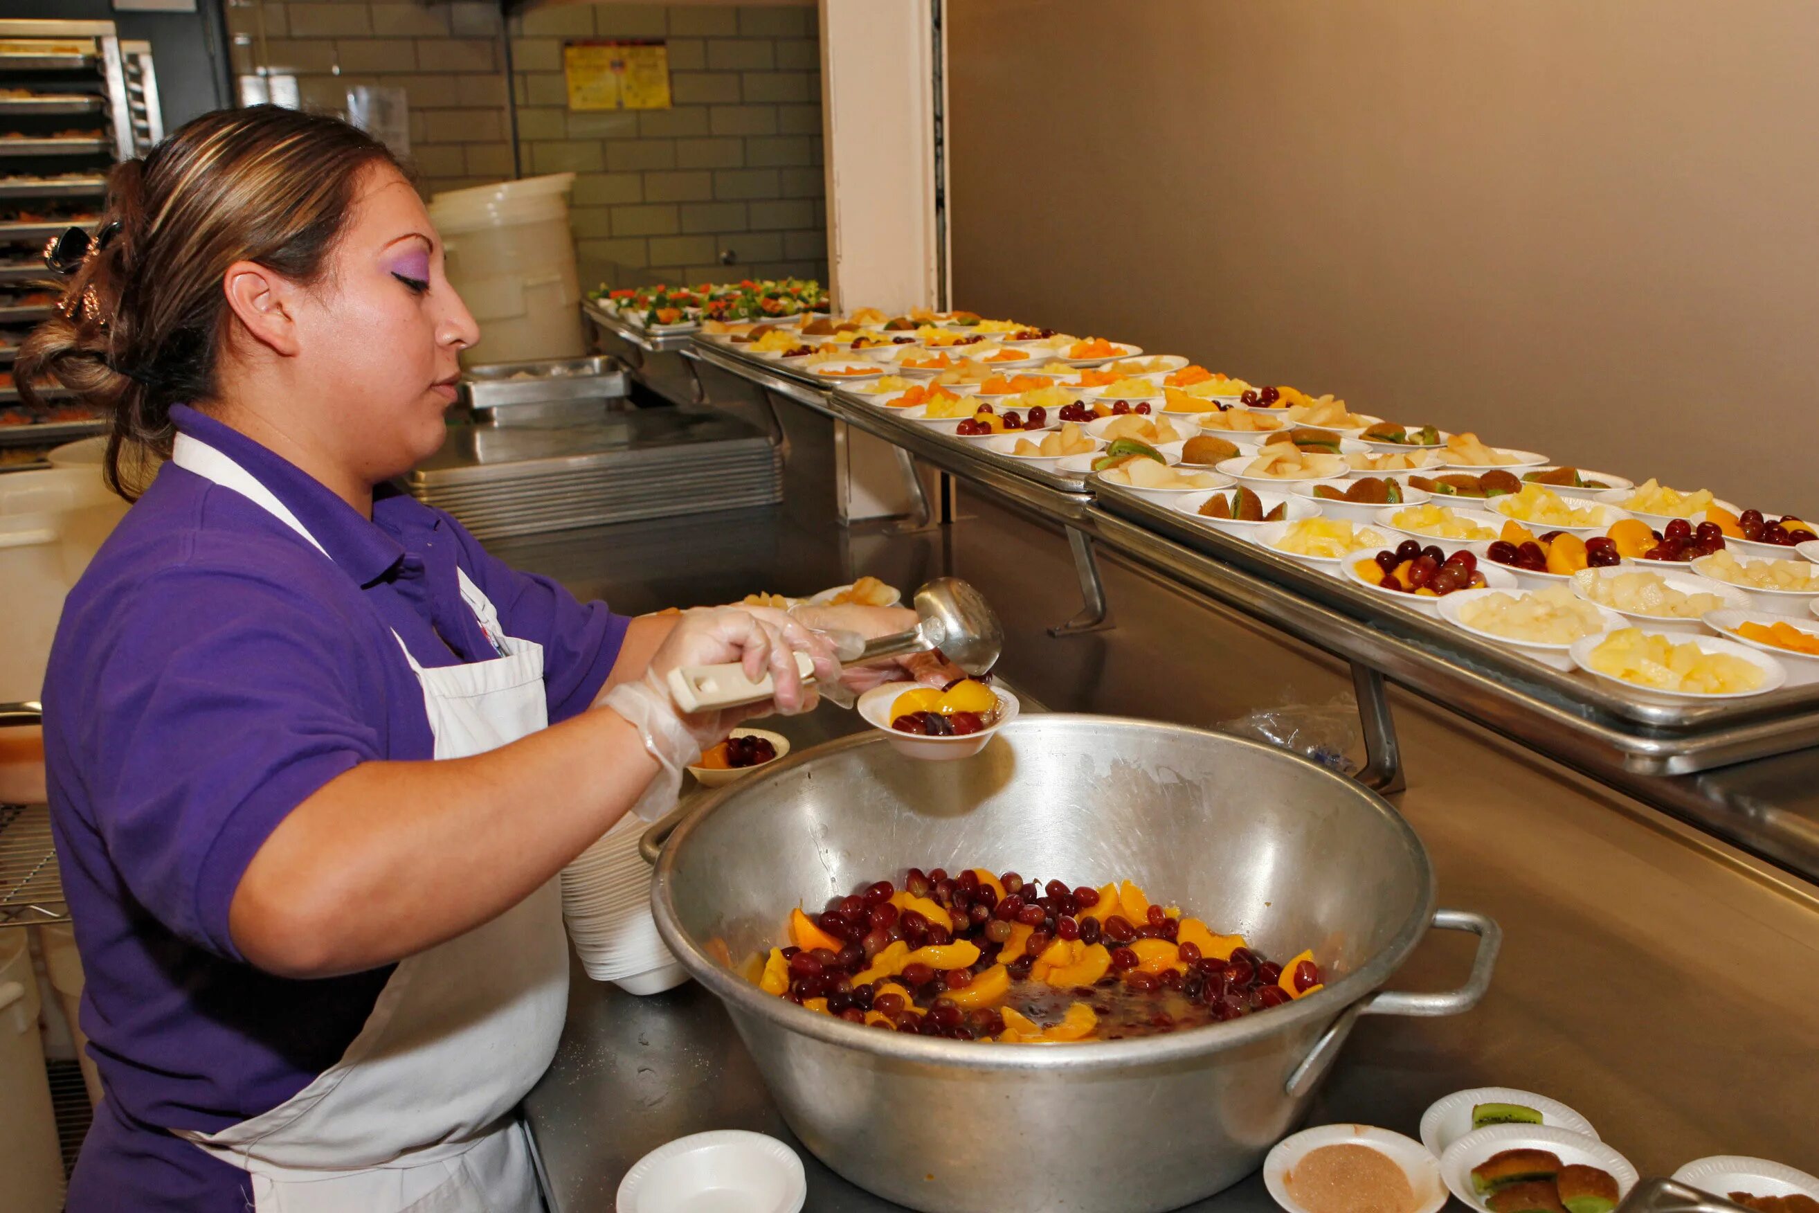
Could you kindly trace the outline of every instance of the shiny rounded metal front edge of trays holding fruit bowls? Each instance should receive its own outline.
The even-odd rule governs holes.
[[[1080,564],[1088,604],[1097,584],[1097,571],[1088,567],[1091,546],[1102,544],[1581,767],[1684,775],[1819,744],[1819,684],[1712,704],[1630,698],[1390,600],[1379,604],[1335,576],[1197,526],[1119,486],[1086,489],[722,344],[697,340],[684,355],[880,436],[1024,513],[1060,524]],[[1392,738],[1384,742],[1393,746]]]

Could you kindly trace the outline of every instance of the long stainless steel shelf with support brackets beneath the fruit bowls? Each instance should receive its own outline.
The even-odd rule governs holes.
[[[624,322],[615,331],[635,336]],[[717,342],[660,340],[684,360],[742,382],[768,409],[784,400],[877,435],[1019,513],[1064,527],[1082,607],[1057,633],[1088,631],[1110,618],[1095,555],[1100,546],[1350,662],[1368,753],[1361,778],[1373,787],[1397,791],[1404,778],[1382,693],[1390,678],[1612,787],[1819,877],[1819,684],[1790,684],[1744,700],[1659,704],[1628,697],[1197,526],[1130,489],[1088,486],[1079,476],[991,455],[980,444]],[[1763,762],[1768,766],[1759,769]],[[1695,773],[1703,775],[1690,778]],[[1781,798],[1764,802],[1764,793]]]

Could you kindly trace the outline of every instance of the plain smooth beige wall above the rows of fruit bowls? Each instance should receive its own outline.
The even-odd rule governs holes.
[[[1819,509],[1810,0],[950,0],[953,298]]]

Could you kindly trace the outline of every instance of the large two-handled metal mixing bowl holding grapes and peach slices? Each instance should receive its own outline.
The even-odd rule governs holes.
[[[913,1209],[1173,1209],[1290,1131],[1361,1013],[1453,1015],[1490,984],[1499,931],[1433,909],[1433,873],[1381,797],[1313,762],[1201,729],[1026,717],[966,762],[871,733],[713,793],[657,862],[657,927],[726,1002],[797,1137]],[[1326,989],[1141,1040],[1011,1046],[860,1028],[717,962],[908,866],[1070,884],[1130,878],[1275,958],[1313,947]],[[1430,926],[1482,937],[1464,987],[1377,993]]]

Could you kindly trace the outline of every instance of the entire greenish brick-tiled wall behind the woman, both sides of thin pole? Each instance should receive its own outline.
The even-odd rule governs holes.
[[[235,69],[298,80],[342,111],[406,89],[426,195],[513,176],[506,38],[524,175],[575,171],[582,282],[828,276],[817,9],[786,4],[227,0]],[[662,38],[675,105],[569,113],[562,44]],[[722,266],[722,251],[735,255]]]

